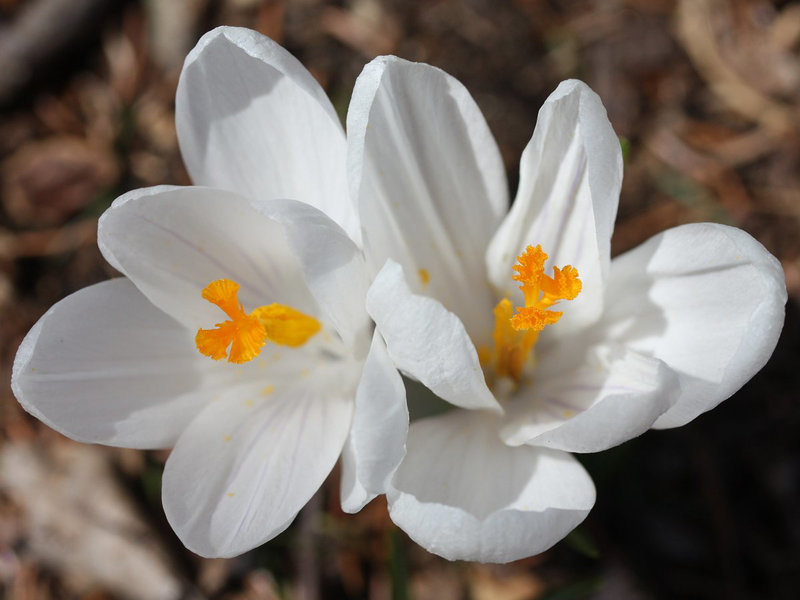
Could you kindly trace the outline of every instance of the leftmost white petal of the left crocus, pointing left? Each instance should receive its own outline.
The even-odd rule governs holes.
[[[25,410],[73,439],[170,447],[216,393],[193,336],[127,279],[106,281],[47,311],[11,385]]]

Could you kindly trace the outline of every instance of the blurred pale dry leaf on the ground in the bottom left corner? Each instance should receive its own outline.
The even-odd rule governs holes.
[[[72,442],[9,443],[0,486],[28,528],[27,552],[76,593],[172,600],[182,585],[158,538],[116,482],[104,451]]]

